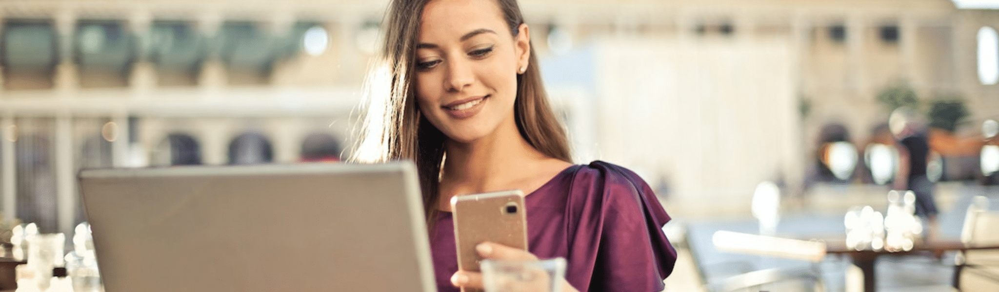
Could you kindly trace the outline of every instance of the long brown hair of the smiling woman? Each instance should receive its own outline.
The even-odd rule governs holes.
[[[431,0],[394,0],[386,13],[383,56],[368,77],[368,105],[354,159],[378,162],[413,159],[420,173],[428,222],[438,214],[441,164],[447,137],[420,113],[416,96],[416,47],[424,7]],[[513,37],[523,16],[515,0],[495,0]],[[571,161],[565,132],[548,105],[533,46],[517,76],[513,115],[528,145],[544,155]],[[388,89],[386,91],[385,89]],[[381,94],[380,94],[381,92]]]

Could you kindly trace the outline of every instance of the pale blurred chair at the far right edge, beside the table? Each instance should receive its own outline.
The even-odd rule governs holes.
[[[985,196],[975,196],[961,230],[965,244],[999,242],[999,211],[989,210]],[[956,257],[954,288],[959,291],[999,291],[999,250],[967,250]]]

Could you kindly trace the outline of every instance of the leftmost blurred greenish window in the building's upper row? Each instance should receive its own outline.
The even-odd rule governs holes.
[[[3,25],[0,66],[8,90],[51,89],[59,62],[57,36],[50,20],[7,20]]]

